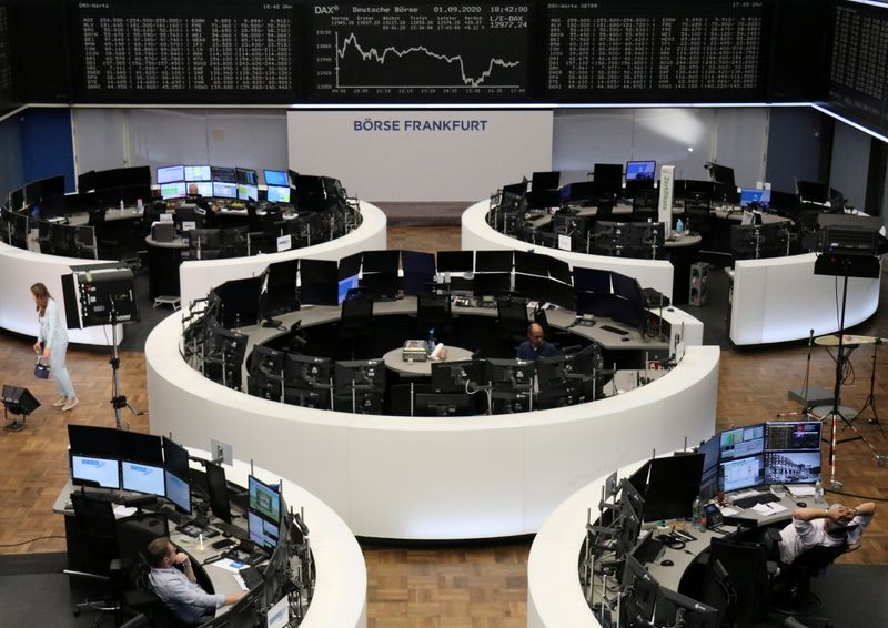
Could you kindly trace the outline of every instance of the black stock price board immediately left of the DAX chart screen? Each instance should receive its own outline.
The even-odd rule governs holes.
[[[292,100],[292,3],[78,2],[73,21],[81,100]]]

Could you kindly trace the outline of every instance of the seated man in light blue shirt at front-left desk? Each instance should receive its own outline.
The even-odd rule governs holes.
[[[215,612],[215,609],[235,604],[246,592],[211,595],[204,591],[194,577],[189,557],[176,553],[173,544],[165,536],[148,544],[148,560],[151,574],[148,579],[158,597],[163,600],[179,619],[189,625],[203,624]],[[182,570],[176,569],[181,566]]]

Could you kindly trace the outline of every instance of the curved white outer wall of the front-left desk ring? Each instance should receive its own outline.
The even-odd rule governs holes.
[[[178,435],[176,435],[178,438]],[[236,445],[235,445],[236,447]],[[205,450],[189,447],[190,454],[209,458]],[[234,466],[224,465],[225,479],[246,486],[250,464],[235,459]],[[317,574],[314,598],[301,628],[364,628],[367,625],[367,573],[364,555],[354,535],[336,514],[321,499],[276,472],[254,466],[253,474],[268,483],[283,483],[283,498],[287,507],[299,511],[305,508],[314,566]],[[191,548],[188,548],[191,550]],[[204,567],[212,577],[213,569]],[[223,573],[223,576],[230,576]]]

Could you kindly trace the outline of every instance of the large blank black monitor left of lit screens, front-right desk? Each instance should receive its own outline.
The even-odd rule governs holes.
[[[687,519],[700,492],[703,454],[654,458],[645,492],[646,521]]]

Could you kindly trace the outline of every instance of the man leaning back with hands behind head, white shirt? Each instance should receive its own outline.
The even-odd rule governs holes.
[[[780,531],[780,561],[791,565],[800,554],[819,545],[836,547],[857,543],[875,514],[872,502],[857,508],[846,508],[841,504],[833,504],[828,509],[796,508],[793,521]]]

